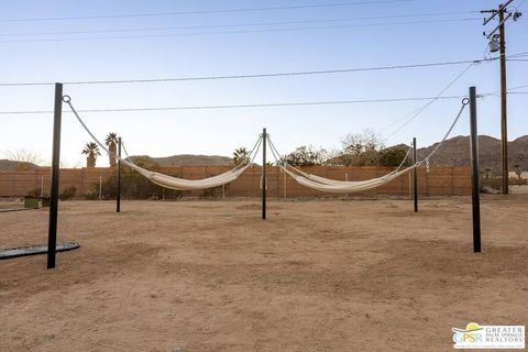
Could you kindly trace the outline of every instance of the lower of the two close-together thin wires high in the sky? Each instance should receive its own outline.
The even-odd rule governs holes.
[[[0,43],[40,43],[40,42],[78,42],[78,41],[106,41],[106,40],[131,40],[145,37],[172,37],[172,36],[197,36],[197,35],[226,35],[226,34],[244,34],[244,33],[268,33],[268,32],[297,32],[297,31],[317,31],[317,30],[336,30],[348,28],[367,28],[367,26],[392,26],[392,25],[407,25],[407,24],[428,24],[438,22],[469,22],[479,21],[480,18],[469,19],[447,19],[447,20],[430,20],[430,21],[407,21],[407,22],[381,22],[381,23],[364,23],[364,24],[342,24],[342,25],[321,25],[321,26],[302,26],[302,28],[287,28],[287,29],[262,29],[262,30],[244,30],[244,31],[223,31],[223,32],[193,32],[193,33],[167,33],[167,34],[136,34],[136,35],[110,35],[110,36],[77,36],[77,37],[62,37],[62,38],[31,38],[31,40],[2,40]]]

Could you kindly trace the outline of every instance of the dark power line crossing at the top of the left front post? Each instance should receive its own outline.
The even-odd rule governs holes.
[[[333,75],[348,74],[359,72],[375,72],[389,69],[406,69],[406,68],[424,68],[424,67],[439,67],[453,65],[479,64],[496,61],[497,58],[485,58],[475,61],[457,61],[457,62],[439,62],[425,64],[408,64],[408,65],[391,65],[391,66],[373,66],[373,67],[358,67],[343,69],[324,69],[324,70],[305,70],[305,72],[288,72],[288,73],[270,73],[270,74],[250,74],[250,75],[228,75],[228,76],[201,76],[201,77],[175,77],[175,78],[152,78],[152,79],[122,79],[122,80],[77,80],[63,81],[64,85],[118,85],[118,84],[150,84],[150,82],[170,82],[170,81],[191,81],[191,80],[220,80],[220,79],[245,79],[245,78],[266,78],[266,77],[287,77],[287,76],[310,76],[310,75]],[[0,82],[0,87],[25,87],[25,86],[53,86],[55,82]]]

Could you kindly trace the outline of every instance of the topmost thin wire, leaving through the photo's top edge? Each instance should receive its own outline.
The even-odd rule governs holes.
[[[344,7],[354,7],[354,6],[365,6],[365,4],[386,4],[386,3],[411,2],[411,1],[414,1],[414,0],[349,1],[349,2],[334,2],[334,3],[324,3],[324,4],[322,4],[322,3],[321,4],[299,4],[299,6],[244,8],[244,9],[220,9],[220,10],[202,10],[202,11],[151,12],[151,13],[105,14],[105,15],[62,16],[62,18],[4,19],[4,20],[0,20],[0,22],[43,22],[43,21],[99,20],[99,19],[120,19],[120,18],[146,18],[146,16],[170,16],[170,15],[189,15],[189,14],[261,12],[261,11],[277,11],[277,10],[344,8]]]

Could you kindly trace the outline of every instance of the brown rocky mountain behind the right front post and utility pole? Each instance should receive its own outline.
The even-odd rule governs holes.
[[[437,144],[419,148],[418,160],[430,153]],[[459,135],[443,142],[431,157],[431,165],[470,166],[470,136]],[[501,140],[488,135],[479,136],[479,163],[481,169],[490,167],[493,174],[501,174]],[[515,165],[519,165],[522,170],[528,170],[528,135],[508,142],[508,164],[510,170],[515,170]]]

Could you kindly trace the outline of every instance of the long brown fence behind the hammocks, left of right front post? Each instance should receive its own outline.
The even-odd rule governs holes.
[[[180,166],[162,167],[160,172],[178,175],[183,178],[200,179],[221,174],[230,169],[228,166]],[[391,167],[305,167],[302,170],[315,175],[340,179],[363,180],[383,176],[394,168]],[[260,197],[261,195],[260,166],[249,168],[237,180],[222,189],[219,195],[226,197]],[[297,184],[278,167],[267,169],[267,191],[270,197],[334,197],[334,195],[317,191]],[[98,191],[100,182],[114,177],[114,169],[109,167],[97,168],[65,168],[61,169],[59,189],[75,186],[76,197],[85,197],[90,191]],[[411,173],[403,175],[389,184],[376,189],[360,194],[363,197],[377,195],[409,197],[413,191]],[[418,170],[418,191],[422,196],[464,196],[471,194],[471,169],[469,167],[431,167],[429,172]],[[3,170],[0,172],[0,197],[21,197],[29,191],[43,187],[50,194],[51,169],[42,167],[34,170]],[[186,193],[185,196],[199,197],[204,191]],[[352,195],[351,195],[352,196]]]

